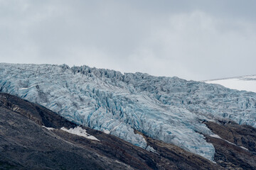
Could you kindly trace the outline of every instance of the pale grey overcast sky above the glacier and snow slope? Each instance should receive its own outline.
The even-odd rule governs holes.
[[[0,62],[183,79],[256,74],[256,1],[0,0]]]

